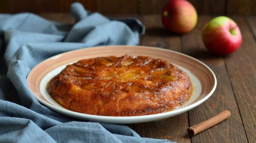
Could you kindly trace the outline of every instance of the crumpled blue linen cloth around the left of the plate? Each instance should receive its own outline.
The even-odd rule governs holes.
[[[26,77],[39,62],[56,54],[100,45],[136,45],[144,26],[139,20],[118,20],[71,5],[74,25],[22,13],[0,14],[0,142],[133,142],[141,138],[124,125],[83,122],[41,105],[29,91]]]

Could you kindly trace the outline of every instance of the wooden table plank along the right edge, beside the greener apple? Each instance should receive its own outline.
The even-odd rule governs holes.
[[[225,57],[228,75],[236,96],[245,132],[250,143],[256,142],[256,41],[253,38],[245,18],[231,17],[234,21],[242,20],[239,28],[243,41],[241,47]],[[251,29],[255,31],[255,19],[249,19]],[[254,35],[255,36],[255,35]]]

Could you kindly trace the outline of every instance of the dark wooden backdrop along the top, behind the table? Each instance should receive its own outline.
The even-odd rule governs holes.
[[[170,0],[0,0],[0,13],[69,12],[73,2],[105,14],[160,14]],[[203,15],[256,15],[256,0],[188,0]]]

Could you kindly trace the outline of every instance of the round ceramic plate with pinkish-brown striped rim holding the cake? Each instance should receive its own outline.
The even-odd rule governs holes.
[[[131,56],[150,56],[167,60],[187,72],[193,84],[193,93],[188,102],[165,113],[130,117],[97,116],[74,112],[62,107],[51,98],[46,90],[46,85],[49,80],[59,74],[68,64],[82,59],[123,56],[124,54]],[[162,48],[124,45],[84,48],[58,54],[35,66],[29,73],[27,81],[29,89],[34,94],[35,98],[52,110],[82,120],[118,124],[150,122],[184,113],[208,99],[213,94],[217,85],[213,71],[204,63],[193,57]]]

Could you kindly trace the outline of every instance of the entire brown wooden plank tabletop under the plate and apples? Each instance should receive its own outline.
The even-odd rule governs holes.
[[[40,14],[49,20],[74,23],[69,14]],[[146,26],[140,45],[159,47],[188,54],[207,64],[216,74],[213,95],[186,113],[149,123],[128,125],[140,136],[165,138],[179,143],[255,143],[256,142],[256,17],[231,17],[242,21],[239,26],[243,42],[229,56],[211,54],[204,47],[201,31],[212,16],[199,16],[195,29],[185,35],[167,32],[159,15],[111,15],[136,17]],[[193,137],[187,128],[220,113],[231,111],[231,117]]]

